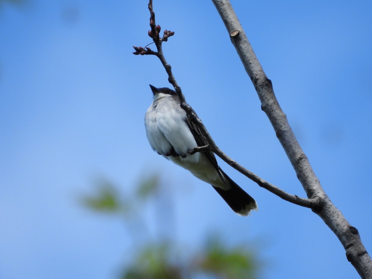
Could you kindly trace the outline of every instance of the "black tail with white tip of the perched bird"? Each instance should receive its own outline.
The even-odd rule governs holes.
[[[239,187],[230,177],[227,176],[220,168],[219,171],[224,177],[230,182],[231,188],[229,190],[223,190],[219,187],[213,186],[213,188],[219,193],[222,199],[231,207],[231,209],[243,216],[247,216],[251,209],[257,209],[256,201],[248,195],[243,189]]]

